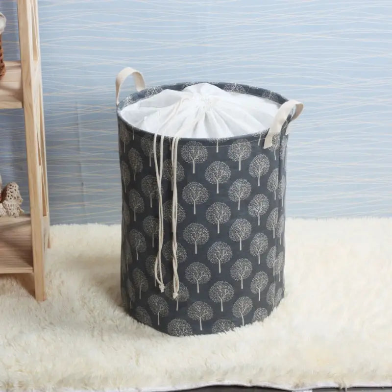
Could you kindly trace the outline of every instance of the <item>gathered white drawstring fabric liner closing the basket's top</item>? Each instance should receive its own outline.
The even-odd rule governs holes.
[[[152,134],[174,136],[181,130],[181,137],[216,139],[268,129],[279,107],[267,98],[198,83],[141,99],[125,106],[120,115],[125,122]]]

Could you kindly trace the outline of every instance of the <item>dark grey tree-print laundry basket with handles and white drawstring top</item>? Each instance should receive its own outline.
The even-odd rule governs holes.
[[[133,75],[136,90],[119,102]],[[116,79],[126,312],[173,336],[268,317],[284,296],[288,124],[302,103],[233,83]]]

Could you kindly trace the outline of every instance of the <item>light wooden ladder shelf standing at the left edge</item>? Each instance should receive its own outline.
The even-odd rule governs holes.
[[[0,273],[32,273],[35,298],[43,301],[50,223],[38,1],[17,0],[17,7],[21,61],[5,62],[0,109],[24,110],[30,214],[0,218]]]

